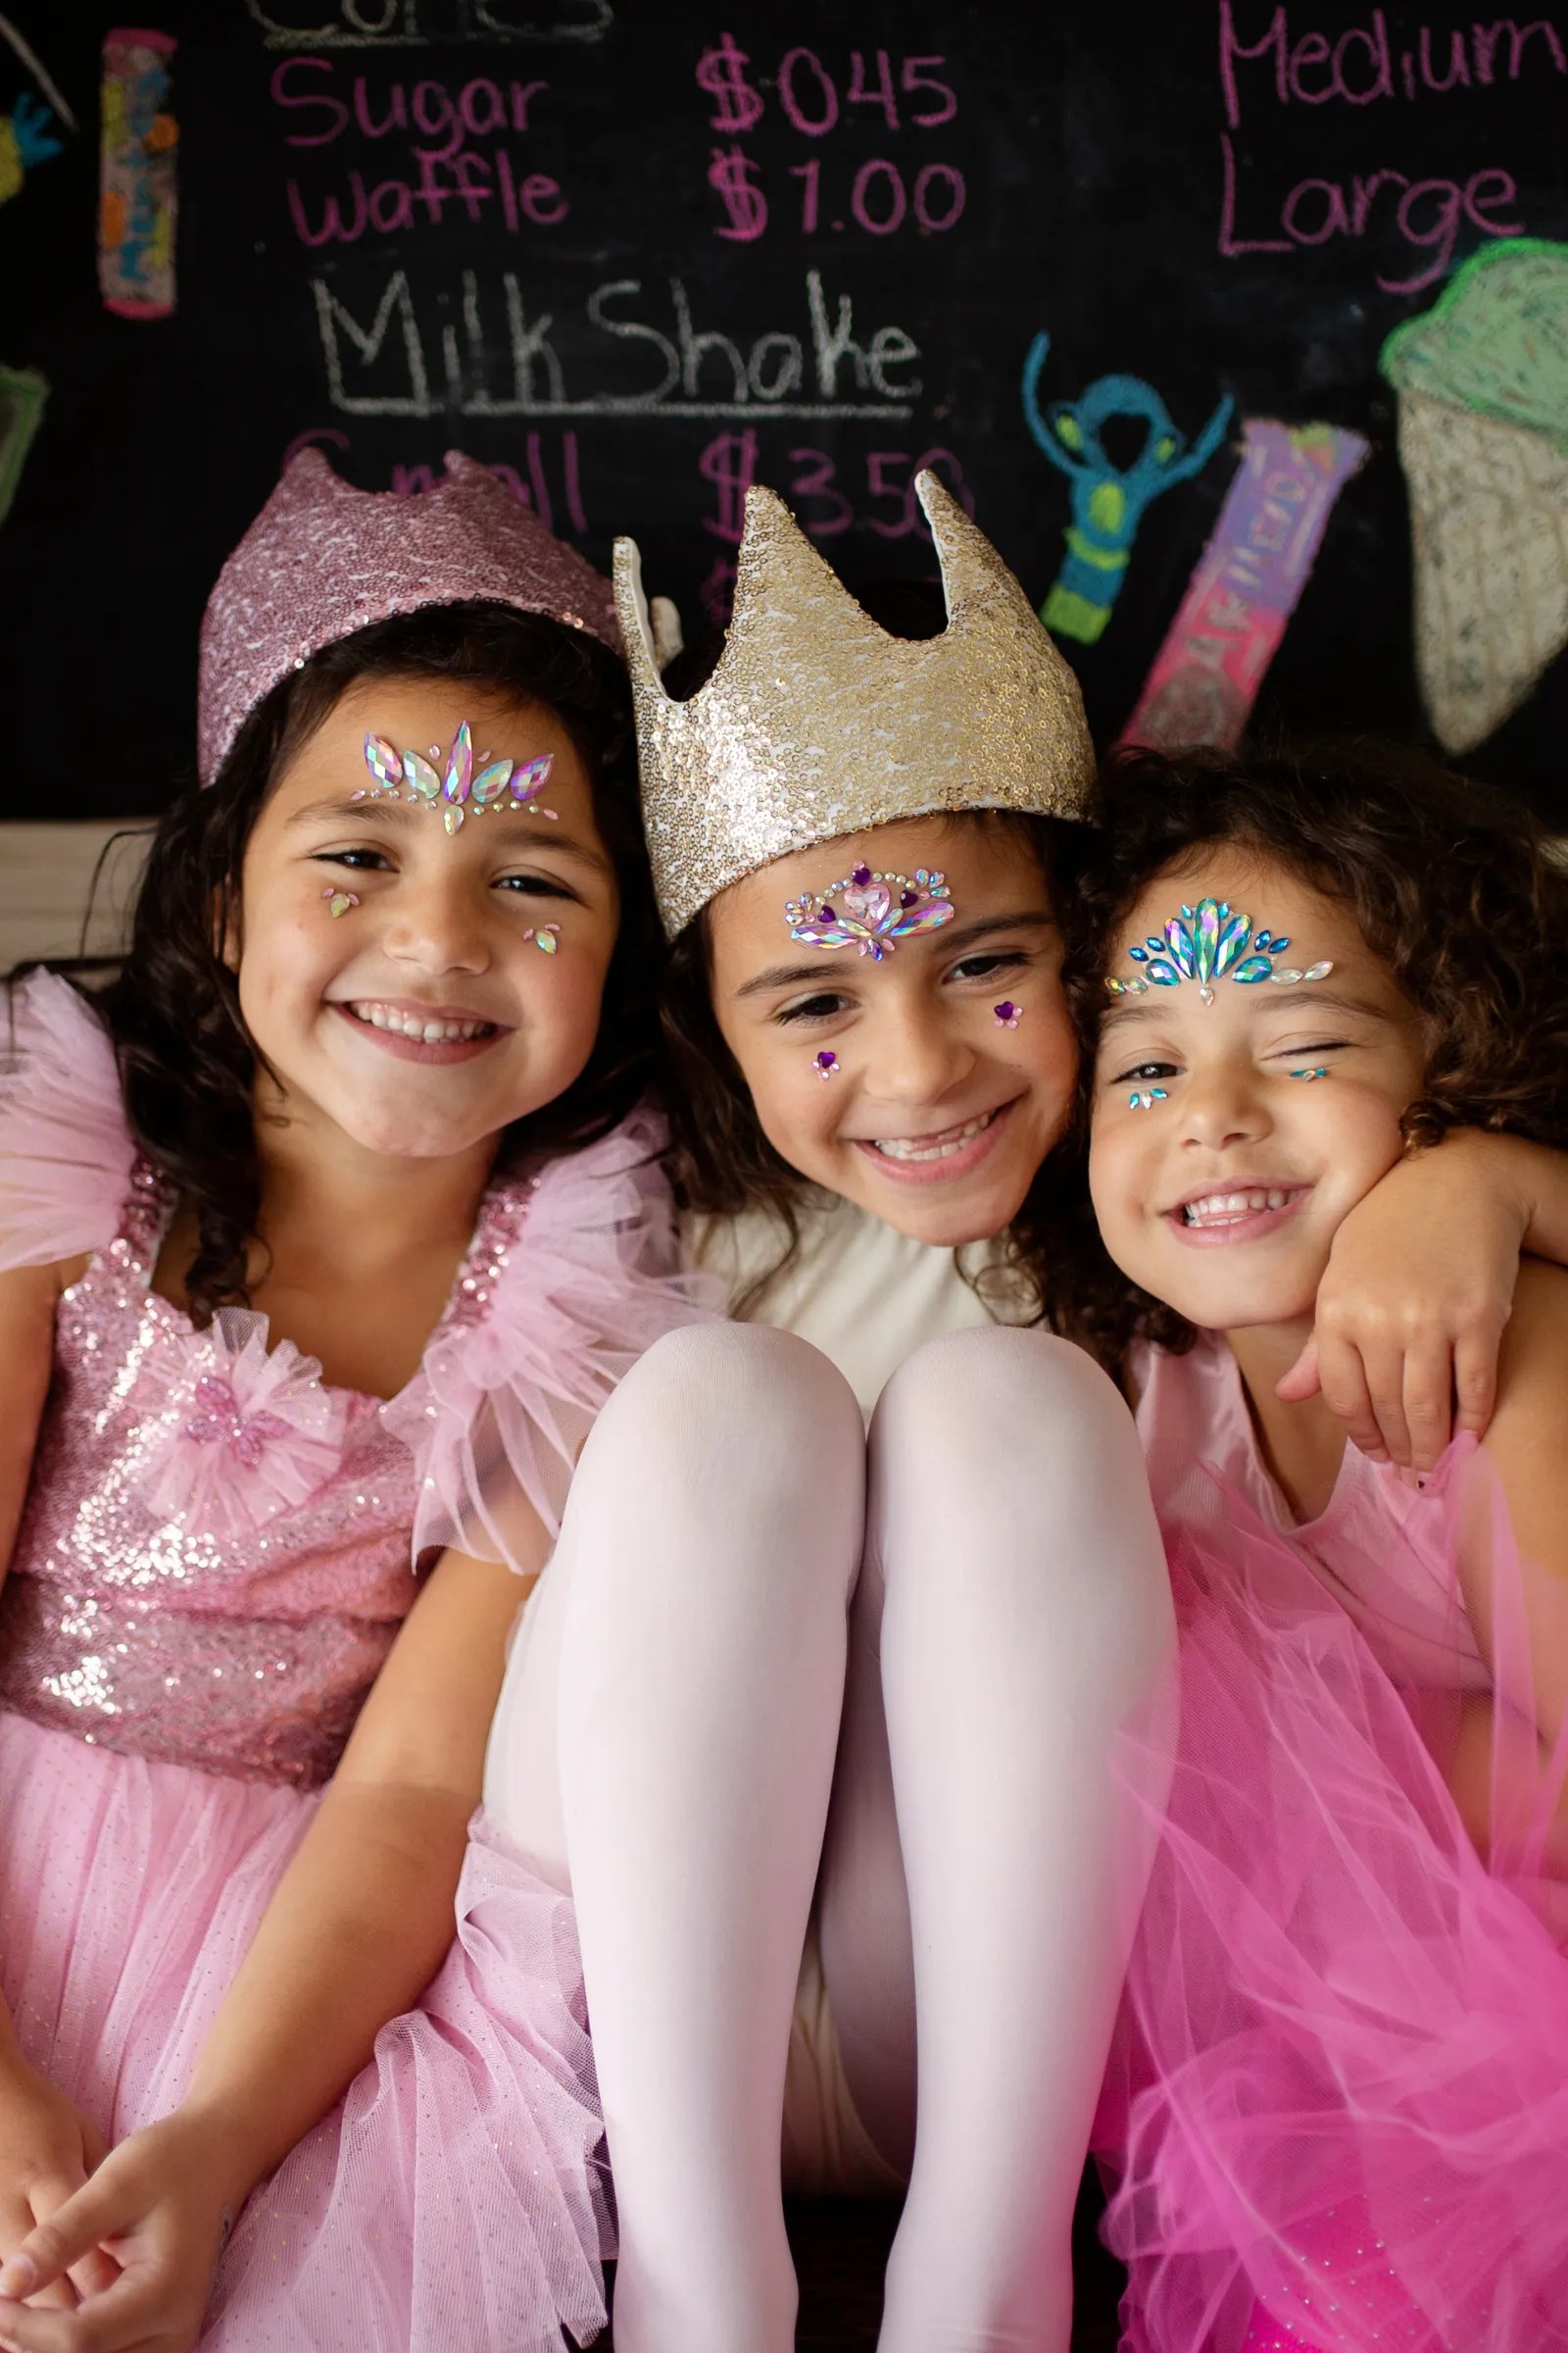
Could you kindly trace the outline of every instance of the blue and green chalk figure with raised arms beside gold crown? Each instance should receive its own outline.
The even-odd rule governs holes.
[[[1039,379],[1048,351],[1051,336],[1037,334],[1023,362],[1023,416],[1037,447],[1072,482],[1072,522],[1067,560],[1039,619],[1058,638],[1093,645],[1112,616],[1145,508],[1161,489],[1204,471],[1225,440],[1234,402],[1229,393],[1220,400],[1192,449],[1143,376],[1098,376],[1081,400],[1053,400],[1041,414]],[[1126,468],[1112,466],[1100,447],[1107,416],[1135,416],[1147,426],[1143,449]]]

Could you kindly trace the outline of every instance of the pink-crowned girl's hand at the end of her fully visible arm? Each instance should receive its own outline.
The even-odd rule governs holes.
[[[5,2353],[188,2353],[228,2233],[228,2151],[188,2113],[120,2141],[89,2181],[12,2240],[0,2266]],[[35,2299],[96,2257],[71,2311]],[[26,2299],[7,2301],[7,2299]]]

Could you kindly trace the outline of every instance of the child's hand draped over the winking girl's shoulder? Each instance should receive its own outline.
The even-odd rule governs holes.
[[[1312,1339],[1276,1395],[1321,1388],[1373,1461],[1432,1471],[1455,1431],[1481,1438],[1493,1419],[1530,1226],[1509,1144],[1455,1129],[1392,1167],[1333,1238]]]

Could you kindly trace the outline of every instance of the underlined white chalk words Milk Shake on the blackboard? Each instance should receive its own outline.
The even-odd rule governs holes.
[[[769,329],[741,344],[712,327],[698,327],[679,278],[668,280],[672,334],[623,308],[639,301],[637,278],[595,287],[583,304],[588,336],[574,322],[574,376],[595,374],[609,351],[646,355],[656,374],[635,391],[567,391],[567,365],[548,311],[529,318],[522,280],[501,271],[482,299],[480,273],[461,273],[461,325],[430,315],[421,320],[407,271],[393,271],[369,320],[350,311],[341,285],[310,280],[315,299],[327,395],[350,416],[882,416],[912,414],[922,379],[910,374],[919,346],[903,327],[877,327],[856,336],[853,304],[839,294],[830,313],[820,271],[806,273],[809,334]],[[437,299],[440,308],[440,299]],[[505,322],[503,355],[496,355],[491,320]],[[609,346],[604,344],[609,339]],[[440,362],[433,367],[433,348]],[[806,395],[806,369],[811,391]],[[872,393],[875,398],[853,398]]]

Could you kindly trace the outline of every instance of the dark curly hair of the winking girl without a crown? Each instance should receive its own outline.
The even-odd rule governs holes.
[[[1088,1205],[1105,972],[1138,894],[1218,847],[1276,861],[1349,908],[1415,1007],[1425,1073],[1401,1120],[1406,1151],[1450,1127],[1568,1148],[1568,868],[1521,802],[1371,739],[1232,760],[1131,753],[1105,776],[1105,833],[1067,925],[1084,1078],[1053,1153],[1056,1224],[1016,1233],[1030,1266],[1051,1266],[1060,1327],[1112,1367],[1138,1339],[1180,1351],[1194,1332],[1110,1261]]]

